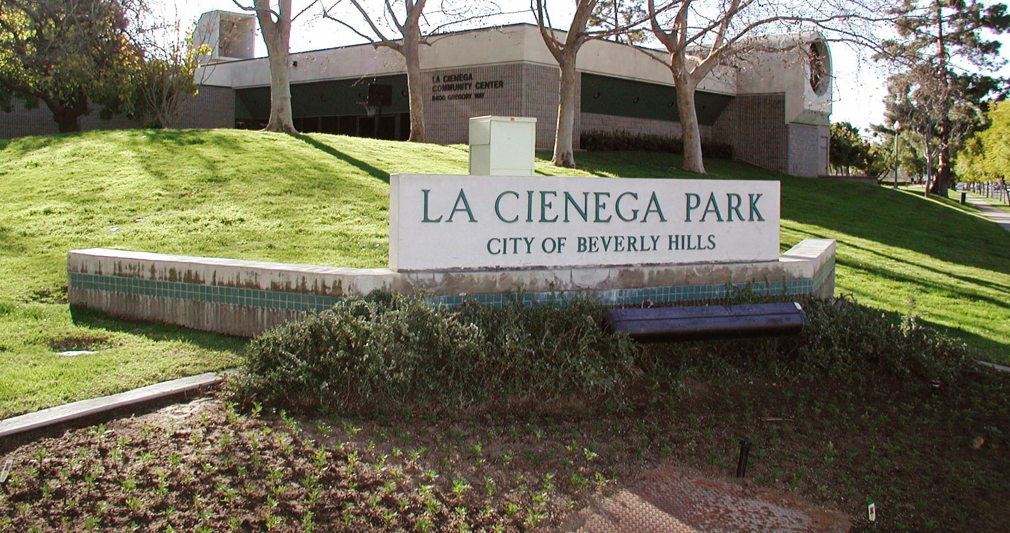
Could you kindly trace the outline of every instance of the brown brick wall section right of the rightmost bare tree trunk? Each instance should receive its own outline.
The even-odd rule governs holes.
[[[783,94],[739,95],[712,125],[712,137],[733,146],[737,159],[789,172],[789,131]]]

